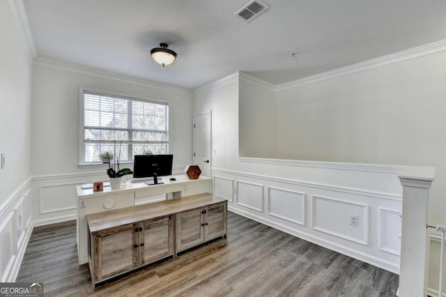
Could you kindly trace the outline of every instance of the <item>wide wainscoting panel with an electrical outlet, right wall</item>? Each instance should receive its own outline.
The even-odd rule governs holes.
[[[313,229],[367,245],[368,206],[328,197],[312,197]],[[355,218],[357,224],[351,220]]]

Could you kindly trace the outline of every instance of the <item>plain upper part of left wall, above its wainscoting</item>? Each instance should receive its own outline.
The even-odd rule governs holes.
[[[31,176],[31,56],[9,1],[0,3],[0,205]]]

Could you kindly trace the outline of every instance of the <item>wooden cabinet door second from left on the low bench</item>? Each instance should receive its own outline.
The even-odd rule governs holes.
[[[174,215],[139,223],[139,265],[174,254]]]

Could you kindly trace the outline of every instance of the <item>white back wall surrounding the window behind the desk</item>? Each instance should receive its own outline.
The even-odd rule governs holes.
[[[192,161],[192,91],[40,58],[33,67],[36,224],[74,219],[75,185],[107,178],[105,166],[78,165],[79,86],[169,102],[169,153],[174,154],[174,172]]]

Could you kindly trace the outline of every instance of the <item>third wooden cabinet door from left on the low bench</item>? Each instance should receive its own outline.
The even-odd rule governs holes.
[[[176,251],[180,252],[204,241],[203,208],[176,214]]]

